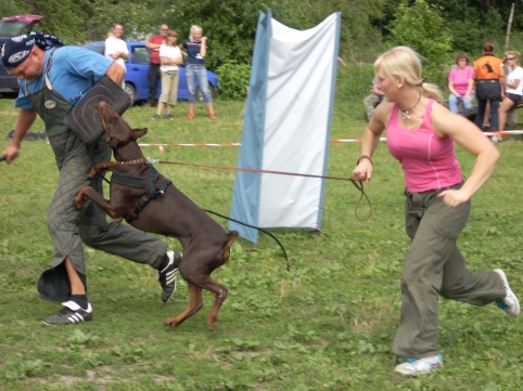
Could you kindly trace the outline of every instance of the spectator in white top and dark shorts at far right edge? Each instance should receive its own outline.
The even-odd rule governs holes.
[[[520,66],[520,53],[515,51],[509,51],[505,53],[505,58],[508,62],[507,68],[509,75],[507,76],[507,91],[505,99],[499,105],[499,131],[505,130],[507,123],[507,113],[518,103],[521,102],[523,95],[523,68]],[[501,134],[498,135],[498,141],[502,141]]]

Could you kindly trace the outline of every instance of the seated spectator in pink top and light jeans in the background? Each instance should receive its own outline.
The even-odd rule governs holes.
[[[469,56],[464,53],[456,57],[456,67],[448,74],[448,108],[452,113],[459,113],[458,104],[461,102],[463,112],[472,108],[474,101],[474,68],[469,66]]]

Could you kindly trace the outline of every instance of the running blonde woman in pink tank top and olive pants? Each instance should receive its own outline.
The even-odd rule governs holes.
[[[385,93],[361,142],[354,173],[372,178],[372,154],[386,129],[388,152],[405,174],[406,231],[411,239],[401,278],[401,314],[393,352],[403,375],[430,373],[443,365],[437,350],[438,297],[473,305],[498,302],[510,316],[520,304],[505,273],[469,270],[456,246],[471,209],[471,197],[487,181],[497,148],[467,118],[438,104],[439,90],[422,80],[421,62],[410,48],[397,47],[374,63]],[[476,156],[464,180],[455,143]]]

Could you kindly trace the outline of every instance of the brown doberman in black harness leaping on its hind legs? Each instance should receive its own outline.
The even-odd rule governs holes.
[[[178,326],[196,313],[203,307],[202,289],[207,289],[215,297],[207,317],[208,329],[214,329],[228,289],[214,281],[211,273],[229,259],[238,232],[227,233],[148,162],[136,142],[148,129],[131,129],[105,102],[99,103],[98,113],[105,129],[105,142],[116,161],[97,164],[89,175],[95,175],[97,169],[113,171],[110,199],[84,186],[75,197],[76,207],[81,209],[85,197],[89,197],[116,222],[126,219],[139,230],[179,239],[183,256],[178,270],[189,285],[189,305],[164,324]]]

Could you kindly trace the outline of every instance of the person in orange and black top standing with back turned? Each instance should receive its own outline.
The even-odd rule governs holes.
[[[494,55],[494,44],[485,43],[483,56],[474,61],[476,82],[477,114],[475,125],[481,129],[485,116],[485,106],[490,103],[490,131],[499,130],[498,108],[505,94],[503,61]],[[493,136],[493,141],[497,141]]]

